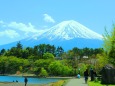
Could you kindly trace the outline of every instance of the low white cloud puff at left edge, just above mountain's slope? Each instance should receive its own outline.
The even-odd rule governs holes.
[[[0,32],[0,37],[4,36],[7,36],[9,38],[16,38],[19,37],[20,35],[16,31],[8,29]]]

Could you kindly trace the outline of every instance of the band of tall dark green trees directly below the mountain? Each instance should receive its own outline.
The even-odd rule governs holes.
[[[54,55],[54,57],[63,57],[63,54],[67,54],[67,57],[71,57],[69,56],[70,53],[73,53],[73,56],[91,56],[91,55],[96,55],[98,53],[102,53],[103,49],[102,48],[77,48],[74,47],[72,50],[68,50],[67,52],[64,52],[64,49],[59,46],[59,47],[55,47],[54,45],[50,45],[50,44],[40,44],[40,45],[36,45],[34,47],[24,47],[23,45],[18,42],[16,47],[12,47],[11,49],[5,50],[2,49],[0,51],[0,55],[4,55],[4,56],[16,56],[17,58],[24,58],[24,59],[28,59],[28,57],[33,56],[33,58],[35,58],[35,60],[38,59],[43,59],[43,55],[44,53],[51,53]]]

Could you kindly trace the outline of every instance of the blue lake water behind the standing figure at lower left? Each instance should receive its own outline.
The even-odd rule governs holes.
[[[24,83],[24,77],[21,76],[0,76],[0,82],[16,82]],[[51,82],[57,82],[61,79],[58,78],[32,78],[28,77],[28,83],[30,84],[47,84]]]

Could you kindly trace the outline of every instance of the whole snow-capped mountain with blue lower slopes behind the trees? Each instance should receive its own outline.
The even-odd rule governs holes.
[[[78,48],[100,48],[103,43],[102,35],[88,29],[82,24],[74,21],[63,21],[42,34],[35,34],[32,37],[20,40],[21,44],[25,47],[33,47],[38,44],[51,44],[62,46],[64,50]],[[17,42],[13,42],[7,45],[0,46],[2,48],[10,48],[16,45]]]

